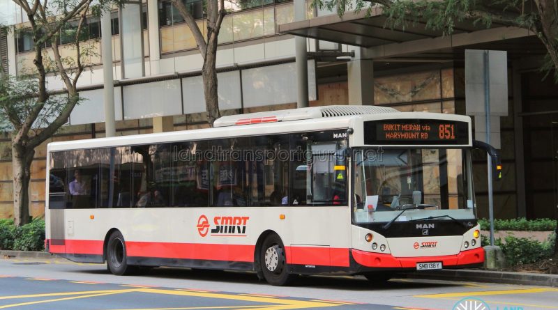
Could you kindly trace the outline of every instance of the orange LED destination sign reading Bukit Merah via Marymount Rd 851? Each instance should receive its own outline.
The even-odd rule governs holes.
[[[364,122],[364,144],[469,144],[467,122],[393,119]]]

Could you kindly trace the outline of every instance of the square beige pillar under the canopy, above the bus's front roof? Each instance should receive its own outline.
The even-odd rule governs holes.
[[[347,63],[347,84],[349,104],[374,105],[374,64],[370,59],[361,59],[360,49]]]

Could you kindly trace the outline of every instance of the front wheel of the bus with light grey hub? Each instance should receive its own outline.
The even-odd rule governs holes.
[[[259,256],[266,281],[273,286],[284,286],[296,277],[287,270],[285,247],[278,235],[268,235]]]

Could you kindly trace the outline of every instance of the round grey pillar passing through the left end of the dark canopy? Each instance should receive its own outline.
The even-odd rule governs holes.
[[[306,1],[294,0],[294,21],[306,20]],[[294,38],[295,64],[296,64],[296,107],[308,107],[308,56],[306,54],[306,38]]]

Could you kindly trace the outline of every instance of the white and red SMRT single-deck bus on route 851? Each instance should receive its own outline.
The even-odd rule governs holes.
[[[47,146],[45,248],[122,275],[481,265],[468,116],[329,106]]]

